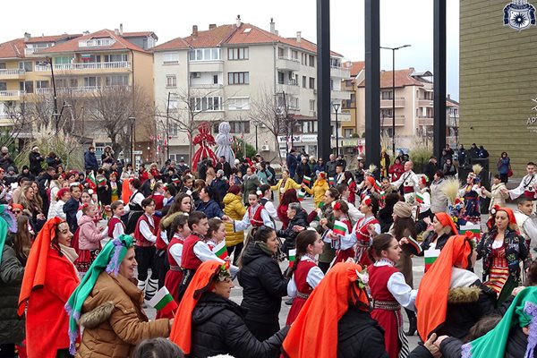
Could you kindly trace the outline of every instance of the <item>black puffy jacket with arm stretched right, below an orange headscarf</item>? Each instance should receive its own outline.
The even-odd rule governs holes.
[[[192,358],[231,354],[236,358],[277,357],[287,335],[283,328],[264,342],[244,324],[244,311],[233,301],[207,292],[192,312]]]

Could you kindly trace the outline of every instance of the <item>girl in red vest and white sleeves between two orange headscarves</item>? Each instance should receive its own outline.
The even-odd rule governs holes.
[[[401,248],[391,234],[379,234],[373,239],[368,268],[369,286],[373,298],[371,317],[384,328],[384,343],[389,358],[403,358],[409,354],[408,341],[403,332],[401,306],[414,310],[417,291],[406,285],[405,277],[396,268]]]

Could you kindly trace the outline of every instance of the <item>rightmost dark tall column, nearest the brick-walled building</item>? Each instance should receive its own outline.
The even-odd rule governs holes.
[[[446,0],[434,0],[434,135],[437,158],[446,147]]]

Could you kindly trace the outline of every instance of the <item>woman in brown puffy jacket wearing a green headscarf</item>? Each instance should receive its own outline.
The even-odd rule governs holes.
[[[174,320],[149,322],[141,308],[143,293],[132,283],[137,266],[130,235],[109,241],[99,252],[65,304],[70,354],[131,356],[142,340],[169,336]],[[81,327],[81,343],[76,349]]]

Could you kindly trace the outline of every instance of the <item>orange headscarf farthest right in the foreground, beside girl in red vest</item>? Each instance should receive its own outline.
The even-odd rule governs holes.
[[[422,277],[416,309],[418,333],[426,341],[430,333],[446,321],[447,293],[451,283],[451,268],[468,266],[472,254],[471,238],[465,235],[451,236],[439,258]]]

